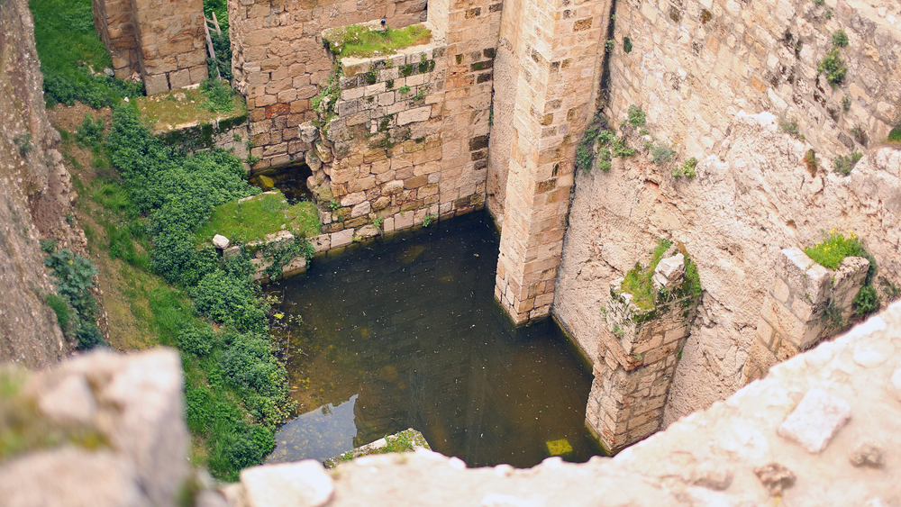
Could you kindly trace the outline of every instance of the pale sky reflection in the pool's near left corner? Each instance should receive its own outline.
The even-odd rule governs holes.
[[[353,448],[353,438],[357,436],[353,407],[357,396],[350,396],[350,401],[337,407],[326,403],[282,426],[276,439],[278,447],[266,462],[282,463],[298,459],[323,461]]]

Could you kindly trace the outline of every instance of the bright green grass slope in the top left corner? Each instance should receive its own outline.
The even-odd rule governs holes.
[[[103,107],[144,95],[143,84],[103,74],[113,62],[94,30],[91,0],[32,0],[29,7],[49,105]]]

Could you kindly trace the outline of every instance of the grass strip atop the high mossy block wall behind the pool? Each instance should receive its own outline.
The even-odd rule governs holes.
[[[329,50],[337,56],[369,58],[393,55],[397,50],[418,46],[432,40],[432,31],[421,24],[394,30],[372,30],[356,24],[341,26],[325,32],[323,37]]]

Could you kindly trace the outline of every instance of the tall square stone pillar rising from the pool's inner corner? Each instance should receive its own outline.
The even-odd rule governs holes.
[[[609,12],[603,0],[523,0],[511,15],[518,76],[495,296],[523,324],[551,312],[576,145],[594,113]]]

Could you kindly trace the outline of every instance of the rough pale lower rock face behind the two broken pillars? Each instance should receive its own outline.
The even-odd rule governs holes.
[[[701,159],[694,179],[672,177],[643,152],[614,160],[609,172],[579,172],[569,213],[553,311],[593,361],[610,282],[660,237],[682,242],[697,264],[702,305],[665,424],[743,385],[782,249],[814,245],[824,231],[854,231],[876,258],[874,285],[901,282],[901,150],[869,151],[848,177],[812,176],[803,162],[810,145],[778,131],[773,115],[739,113],[726,130],[728,149]]]

